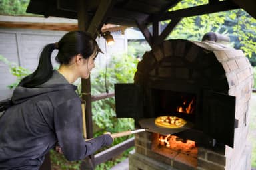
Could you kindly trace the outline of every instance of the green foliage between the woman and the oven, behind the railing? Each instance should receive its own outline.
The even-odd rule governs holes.
[[[136,71],[137,62],[138,60],[132,55],[121,54],[118,56],[112,56],[111,61],[107,67],[107,72],[105,72],[105,68],[101,68],[97,74],[91,74],[92,94],[95,95],[105,92],[106,84],[109,92],[113,92],[115,83],[133,82],[133,76]],[[101,128],[101,131],[95,133],[95,137],[106,131],[117,133],[120,131],[134,129],[133,118],[116,118],[114,98],[93,102],[92,110],[93,122],[95,122],[95,124]],[[131,136],[118,137],[114,140],[113,145],[129,139],[129,137]],[[120,155],[119,158],[112,158],[106,163],[101,163],[96,167],[96,169],[109,169],[127,157],[127,155],[128,151],[123,153],[123,155]]]

